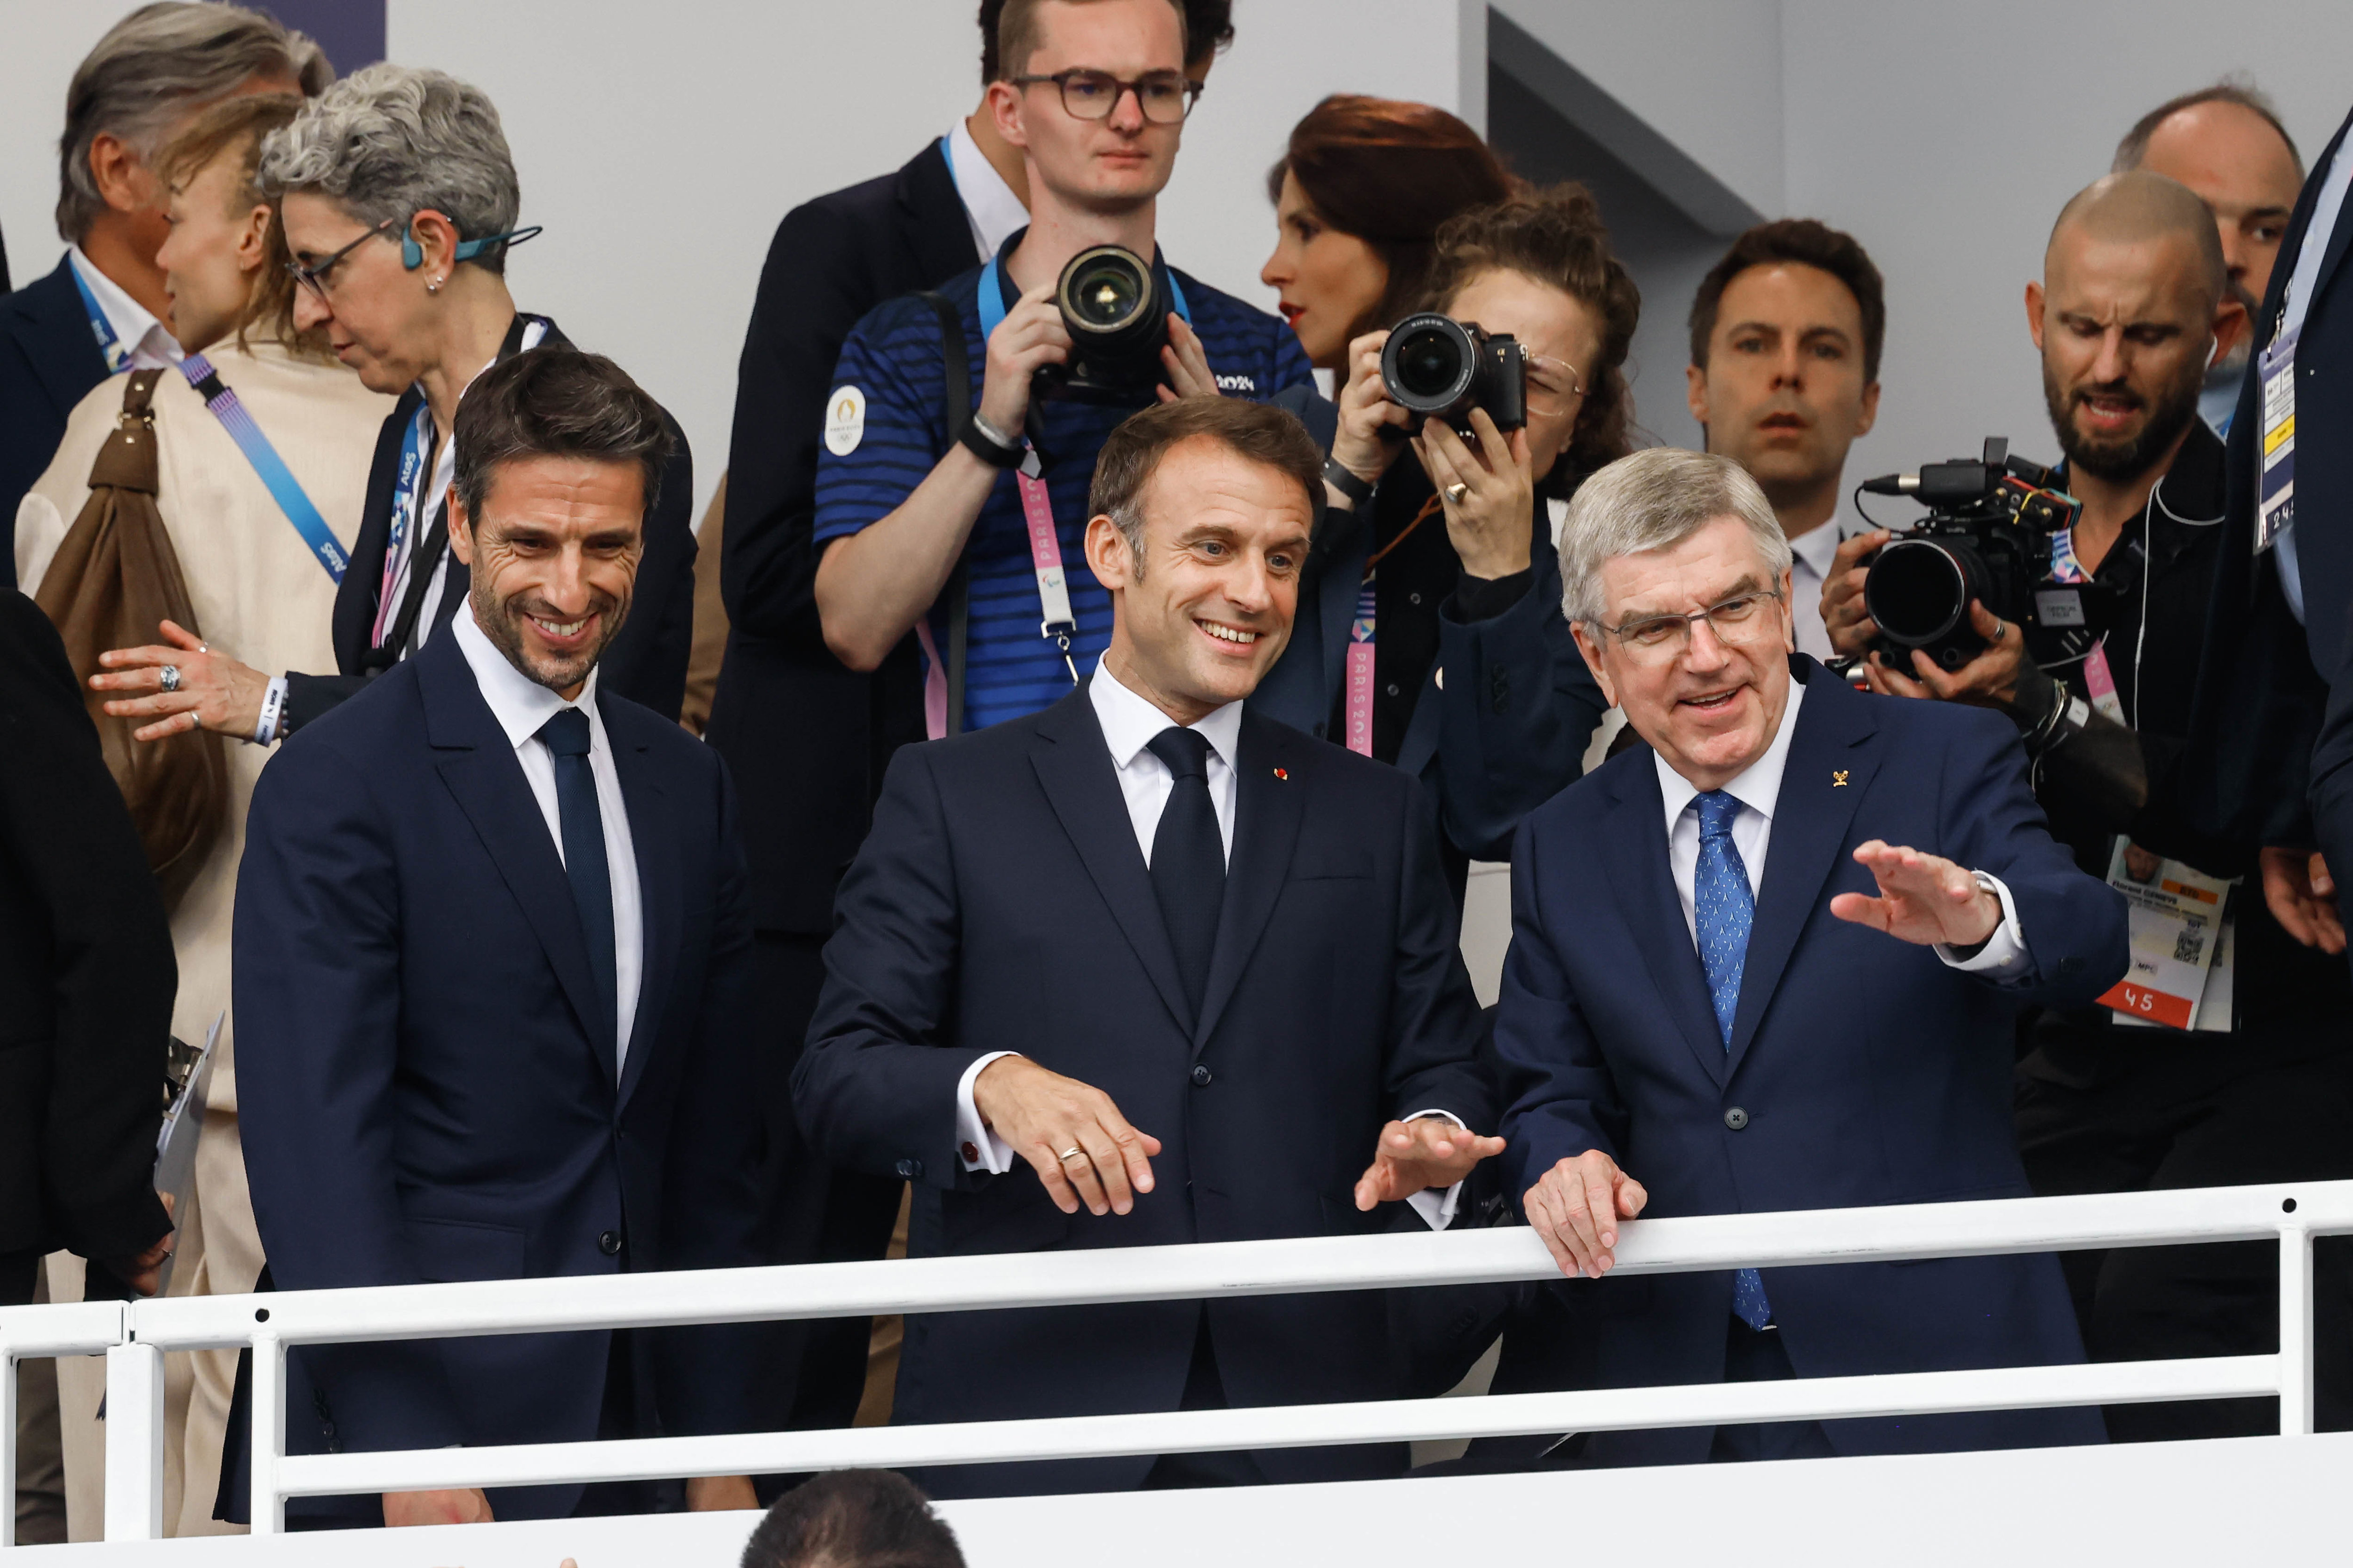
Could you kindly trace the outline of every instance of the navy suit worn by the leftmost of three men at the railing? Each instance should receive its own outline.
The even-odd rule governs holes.
[[[238,872],[238,1114],[278,1288],[753,1260],[734,795],[678,724],[616,693],[598,710],[645,900],[619,1086],[555,839],[454,637],[264,769]],[[640,1422],[748,1425],[729,1331],[647,1340]],[[607,1335],[308,1347],[294,1368],[292,1453],[574,1441],[598,1436]],[[492,1507],[567,1514],[579,1490]]]

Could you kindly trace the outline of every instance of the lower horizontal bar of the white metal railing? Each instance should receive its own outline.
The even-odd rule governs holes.
[[[1548,1432],[1715,1427],[1758,1420],[1847,1420],[2278,1394],[2278,1356],[2104,1361],[1960,1373],[1887,1373],[1791,1382],[1711,1382],[1475,1399],[1388,1399],[1148,1415],[852,1427],[741,1436],[668,1436],[511,1448],[421,1448],[287,1458],[287,1495],[647,1481],[659,1476],[906,1469],[1132,1453],[1313,1448]]]

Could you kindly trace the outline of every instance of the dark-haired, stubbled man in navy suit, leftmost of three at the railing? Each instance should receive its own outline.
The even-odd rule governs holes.
[[[456,416],[447,637],[261,773],[238,877],[245,1168],[280,1288],[753,1262],[751,912],[727,769],[598,689],[671,425],[534,348]],[[741,1333],[318,1345],[292,1453],[746,1429]],[[322,1500],[308,1523],[647,1512],[638,1486]],[[689,1507],[753,1507],[741,1476]]]

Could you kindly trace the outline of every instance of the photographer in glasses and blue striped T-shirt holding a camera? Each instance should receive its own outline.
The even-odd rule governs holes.
[[[932,736],[1047,708],[1108,644],[1111,597],[1080,538],[1094,456],[1122,418],[1311,378],[1278,317],[1155,249],[1153,205],[1198,96],[1184,9],[1007,0],[998,38],[988,108],[1021,148],[1031,223],[936,296],[859,322],[816,470],[826,646],[875,670],[913,630]]]

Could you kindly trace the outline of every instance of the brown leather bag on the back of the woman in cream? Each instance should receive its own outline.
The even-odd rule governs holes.
[[[66,529],[33,602],[56,623],[82,703],[99,726],[106,769],[115,776],[165,907],[176,907],[205,856],[228,825],[228,752],[195,729],[167,741],[132,741],[141,719],[106,717],[106,693],[89,689],[99,654],[136,649],[176,621],[198,637],[188,581],[155,510],[155,381],[165,371],[125,376],[122,418],[89,465],[89,501]]]

